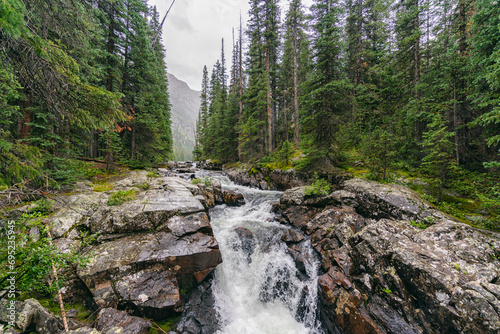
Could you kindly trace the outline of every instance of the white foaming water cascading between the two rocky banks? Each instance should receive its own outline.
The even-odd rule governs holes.
[[[212,285],[219,334],[319,334],[317,274],[319,262],[310,242],[301,245],[304,265],[297,269],[281,240],[288,227],[273,219],[272,203],[281,193],[238,186],[223,176],[224,190],[245,197],[241,207],[221,205],[210,211],[223,263]]]

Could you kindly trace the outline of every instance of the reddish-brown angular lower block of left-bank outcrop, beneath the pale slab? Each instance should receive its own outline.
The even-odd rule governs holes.
[[[206,276],[222,261],[215,238],[200,232],[182,238],[167,232],[132,235],[98,245],[93,252],[94,257],[79,269],[78,275],[96,303],[116,307],[128,300],[126,296],[135,296],[137,302],[132,303],[153,316],[157,312],[150,309],[179,309],[179,282],[174,275],[196,279],[199,273]],[[162,280],[164,290],[159,283]],[[116,290],[117,286],[126,289]]]

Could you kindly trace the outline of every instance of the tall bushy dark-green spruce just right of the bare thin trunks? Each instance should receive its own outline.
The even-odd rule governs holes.
[[[337,1],[316,0],[313,12],[313,71],[306,83],[301,118],[302,147],[308,161],[338,161],[337,133],[352,105],[352,85],[345,79],[341,61],[340,29],[342,9]],[[326,161],[325,161],[326,159]]]

